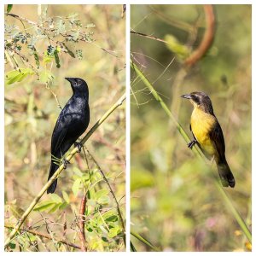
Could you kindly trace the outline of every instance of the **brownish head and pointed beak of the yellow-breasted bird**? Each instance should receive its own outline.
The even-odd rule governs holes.
[[[189,94],[184,94],[181,97],[189,99],[194,108],[200,108],[204,112],[214,115],[211,99],[205,92],[195,91]]]

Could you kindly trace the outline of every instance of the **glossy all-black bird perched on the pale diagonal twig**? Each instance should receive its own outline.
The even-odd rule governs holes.
[[[59,165],[55,158],[61,159],[67,150],[75,144],[81,149],[76,140],[87,129],[90,122],[89,90],[83,79],[65,78],[70,82],[73,96],[69,99],[56,121],[55,129],[51,137],[51,164],[49,177],[52,177]],[[64,163],[67,165],[66,160]],[[47,194],[54,193],[57,186],[57,179],[47,189]]]

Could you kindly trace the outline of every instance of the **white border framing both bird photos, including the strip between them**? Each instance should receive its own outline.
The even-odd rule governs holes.
[[[1,6],[1,10],[0,10],[0,26],[1,26],[1,30],[0,30],[0,45],[1,45],[1,50],[0,50],[0,60],[1,60],[1,86],[0,86],[0,113],[2,113],[0,115],[1,118],[1,125],[0,125],[0,135],[1,135],[1,144],[0,144],[0,172],[1,172],[1,181],[0,181],[0,193],[1,193],[1,199],[0,200],[0,221],[1,221],[1,225],[0,225],[0,252],[1,255],[3,253],[3,223],[4,223],[4,219],[3,219],[3,195],[4,195],[4,108],[3,108],[3,96],[4,96],[4,65],[3,65],[3,20],[4,20],[4,9],[3,6],[4,4],[8,4],[8,3],[13,3],[13,4],[126,4],[126,13],[125,13],[125,17],[126,17],[126,185],[125,185],[125,189],[126,189],[126,245],[127,245],[127,250],[130,250],[130,6],[129,4],[205,4],[205,3],[211,3],[211,4],[252,4],[253,8],[252,8],[252,13],[253,13],[253,46],[256,44],[255,41],[255,26],[256,26],[256,18],[255,18],[255,4],[253,4],[253,0],[248,1],[248,0],[244,0],[244,1],[221,1],[221,0],[214,0],[214,1],[209,1],[209,0],[205,0],[205,1],[189,1],[189,0],[166,0],[166,1],[160,1],[160,0],[123,0],[123,1],[116,1],[116,0],[102,0],[102,1],[93,1],[93,0],[73,0],[71,1],[65,1],[62,0],[60,2],[56,2],[56,3],[49,3],[49,1],[37,1],[37,0],[28,0],[28,1],[24,1],[24,2],[20,2],[19,0],[13,0],[13,1],[7,1],[7,0],[2,0],[0,3]],[[255,47],[255,46],[254,46]],[[252,49],[253,50],[253,49]],[[256,55],[255,55],[255,51],[253,50],[253,54],[252,54],[252,61],[255,60]],[[252,74],[255,72],[255,61],[253,61],[252,63]],[[252,86],[255,86],[255,78],[253,75],[253,79],[252,79]],[[256,99],[256,90],[253,88],[253,102],[252,102],[252,132],[256,131],[256,124],[255,124],[255,108],[256,108],[256,103],[254,102]],[[254,163],[254,157],[255,155],[255,145],[256,145],[256,137],[254,136],[254,134],[252,135],[253,137],[253,154],[252,154],[252,160],[253,160],[253,164],[252,164],[252,183],[255,180],[255,173],[254,173],[254,169],[255,169],[255,163]],[[253,193],[253,200],[255,197],[255,189],[252,187],[252,193]],[[253,204],[253,224],[255,224],[255,219],[256,217],[255,215],[255,203],[252,201]],[[254,235],[254,228],[253,228],[253,235]],[[253,236],[253,248],[255,247],[255,237]],[[255,249],[253,249],[253,252],[255,252]],[[3,253],[5,254],[5,253]],[[20,255],[20,253],[14,253],[14,255]],[[26,253],[23,253],[23,255]],[[33,253],[28,253],[29,255],[32,255]],[[38,253],[35,253],[38,254]],[[55,253],[53,253],[55,254]],[[67,253],[64,253],[67,254]],[[84,253],[76,253],[76,255],[84,255]],[[94,255],[97,255],[100,253],[94,253]],[[101,253],[102,254],[102,253]],[[117,254],[117,253],[104,253],[105,255],[113,255],[113,254]],[[121,255],[130,255],[131,253],[119,253]],[[137,253],[136,253],[137,254]],[[138,253],[139,255],[148,255],[148,253]],[[152,254],[152,253],[151,253]],[[160,255],[160,254],[167,254],[166,252],[164,253],[154,253],[154,255]],[[169,254],[177,254],[177,253],[168,253]],[[189,255],[190,253],[178,253],[179,255]],[[192,254],[192,253],[191,253]],[[193,252],[193,254],[195,254],[195,252]],[[213,253],[200,253],[201,255],[206,255],[206,254],[213,254]],[[216,253],[214,253],[215,255]],[[218,253],[218,255],[226,255],[226,254],[231,254],[231,253]],[[247,254],[248,253],[232,253],[233,255],[241,255],[241,254]],[[250,253],[249,253],[250,254]]]

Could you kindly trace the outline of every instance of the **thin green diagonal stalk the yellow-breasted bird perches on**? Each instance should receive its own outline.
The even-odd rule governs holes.
[[[161,107],[164,109],[164,111],[166,112],[166,114],[172,119],[174,125],[176,125],[177,127],[177,131],[180,132],[180,134],[183,136],[183,138],[185,139],[186,143],[189,143],[189,137],[186,134],[186,132],[183,130],[183,127],[177,122],[177,120],[174,118],[174,116],[172,115],[171,111],[169,110],[169,108],[166,106],[166,103],[163,102],[163,100],[161,99],[161,97],[158,95],[157,91],[154,90],[154,87],[152,86],[152,84],[150,84],[150,82],[148,81],[148,79],[146,79],[146,77],[143,75],[143,73],[139,70],[139,68],[136,66],[136,64],[134,62],[131,61],[131,68],[134,69],[134,71],[137,73],[137,76],[142,79],[143,83],[148,87],[149,90],[151,90],[155,100],[157,102],[160,102]],[[195,148],[195,147],[194,147]],[[192,149],[192,151],[196,154],[196,156],[200,157],[201,159],[205,160],[200,148],[196,147],[195,149]],[[209,168],[207,168],[209,169]],[[212,172],[211,172],[212,173]],[[218,181],[215,181],[215,185],[218,188],[218,191],[221,193],[221,195],[224,198],[224,201],[226,202],[226,206],[229,207],[230,212],[232,212],[234,218],[236,218],[237,223],[239,224],[239,226],[241,227],[241,230],[243,231],[244,235],[247,236],[248,241],[250,241],[250,243],[252,243],[252,233],[251,231],[248,229],[247,224],[245,223],[245,221],[243,220],[243,218],[241,218],[240,213],[236,210],[236,208],[234,207],[234,205],[232,204],[232,202],[230,201],[229,196],[226,194],[226,192],[224,191],[224,188],[220,185],[220,183],[218,183]]]

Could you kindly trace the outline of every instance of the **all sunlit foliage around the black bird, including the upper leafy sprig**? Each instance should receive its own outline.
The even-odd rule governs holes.
[[[47,181],[50,138],[60,113],[58,106],[63,107],[72,96],[70,84],[64,78],[80,77],[89,85],[87,131],[125,92],[125,18],[121,18],[122,5],[13,5],[5,9],[9,13],[5,15],[8,235],[10,226],[16,224]],[[124,217],[124,106],[96,130],[86,148],[108,178]],[[81,246],[79,207],[85,194],[88,251],[125,250],[119,214],[108,184],[83,150],[61,173],[55,194],[43,196],[23,226],[27,232],[17,235],[9,250],[79,251],[61,241]]]

